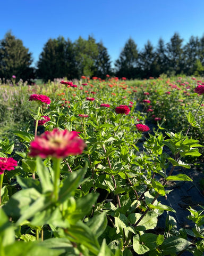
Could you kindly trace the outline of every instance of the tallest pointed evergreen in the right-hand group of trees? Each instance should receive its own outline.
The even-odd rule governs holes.
[[[171,42],[167,44],[169,75],[181,74],[184,69],[182,42],[183,39],[180,38],[180,35],[175,33],[171,38]]]

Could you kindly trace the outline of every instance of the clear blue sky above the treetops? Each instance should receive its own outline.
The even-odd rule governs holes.
[[[94,36],[119,57],[131,37],[142,50],[175,32],[184,39],[204,35],[204,0],[0,0],[0,39],[8,30],[29,48],[36,64],[49,38],[72,42]]]

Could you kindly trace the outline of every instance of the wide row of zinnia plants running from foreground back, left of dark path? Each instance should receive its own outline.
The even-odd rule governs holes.
[[[202,255],[204,208],[189,208],[190,238],[159,201],[171,193],[168,181],[192,181],[174,169],[201,155],[189,132],[199,126],[202,96],[185,131],[173,133],[164,132],[159,111],[158,127],[146,124],[153,98],[141,99],[150,95],[141,82],[82,77],[59,81],[55,91],[45,86],[47,94],[27,99],[30,125],[12,131],[21,150],[8,139],[0,144],[0,255]],[[194,97],[203,95],[203,85],[191,86]]]

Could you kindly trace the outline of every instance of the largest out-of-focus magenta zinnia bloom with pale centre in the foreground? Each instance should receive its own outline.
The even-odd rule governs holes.
[[[48,156],[55,158],[65,158],[70,155],[82,153],[86,144],[79,138],[78,132],[54,129],[52,132],[46,131],[30,142],[30,153],[32,157]]]

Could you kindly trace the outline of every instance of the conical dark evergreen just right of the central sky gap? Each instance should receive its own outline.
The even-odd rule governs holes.
[[[138,77],[138,50],[133,39],[125,43],[120,57],[115,61],[116,76],[126,78]]]

